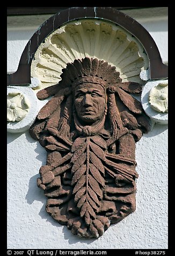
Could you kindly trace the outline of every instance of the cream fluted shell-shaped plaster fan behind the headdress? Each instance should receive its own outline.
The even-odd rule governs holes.
[[[85,56],[115,66],[123,82],[142,84],[148,80],[144,72],[149,67],[148,58],[135,37],[111,22],[80,19],[61,26],[40,44],[31,64],[31,77],[38,78],[40,83],[33,89],[59,83],[67,63]]]

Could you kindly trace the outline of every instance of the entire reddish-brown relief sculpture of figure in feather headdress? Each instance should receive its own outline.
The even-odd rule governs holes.
[[[86,57],[68,63],[59,84],[37,95],[53,96],[30,129],[47,151],[38,187],[48,214],[73,234],[98,238],[135,211],[135,143],[150,130],[132,96],[141,91],[108,62]]]

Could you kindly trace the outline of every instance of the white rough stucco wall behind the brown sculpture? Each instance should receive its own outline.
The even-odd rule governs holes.
[[[167,8],[129,10],[154,38],[167,63]],[[47,16],[8,19],[8,72],[15,72],[21,53]],[[31,24],[31,26],[29,25]],[[40,103],[41,105],[43,103]],[[8,133],[8,248],[166,249],[167,125],[156,124],[136,144],[136,211],[111,225],[99,239],[79,239],[45,211],[46,197],[37,187],[46,151],[25,133]]]

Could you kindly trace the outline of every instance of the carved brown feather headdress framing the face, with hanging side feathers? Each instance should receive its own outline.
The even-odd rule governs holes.
[[[70,136],[72,93],[78,84],[83,83],[100,84],[106,90],[108,119],[113,137],[110,144],[125,134],[126,128],[133,132],[136,140],[141,138],[142,132],[149,131],[149,120],[143,113],[141,103],[129,95],[140,94],[142,86],[135,82],[122,83],[120,73],[114,66],[108,65],[108,62],[88,57],[74,60],[62,69],[61,79],[58,84],[42,89],[37,94],[39,99],[54,95],[40,110],[30,129],[31,136],[39,139],[41,145],[45,145],[43,139],[50,128],[60,131],[61,136]]]

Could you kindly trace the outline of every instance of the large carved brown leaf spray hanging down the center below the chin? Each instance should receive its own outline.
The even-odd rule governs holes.
[[[95,141],[98,140],[97,137],[94,139]],[[75,185],[73,190],[74,202],[87,225],[92,224],[93,219],[96,218],[96,212],[100,205],[99,200],[103,198],[105,186],[103,174],[100,172],[100,169],[102,173],[104,170],[101,160],[105,160],[105,154],[101,147],[93,143],[92,138],[77,138],[74,141],[72,144],[74,155],[71,160],[74,162],[71,183]],[[91,159],[96,161],[98,168]]]

